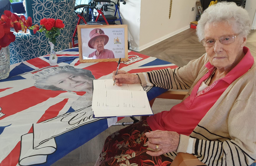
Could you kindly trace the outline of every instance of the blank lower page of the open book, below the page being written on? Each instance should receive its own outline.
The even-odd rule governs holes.
[[[145,91],[128,90],[93,90],[92,109],[148,109]]]

